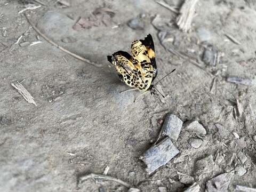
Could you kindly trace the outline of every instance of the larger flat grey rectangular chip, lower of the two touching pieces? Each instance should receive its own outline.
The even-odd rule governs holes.
[[[173,145],[170,138],[166,137],[157,145],[150,147],[140,159],[147,165],[147,173],[151,174],[178,153],[177,147]]]

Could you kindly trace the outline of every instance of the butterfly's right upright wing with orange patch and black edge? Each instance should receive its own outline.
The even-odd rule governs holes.
[[[143,40],[137,40],[132,43],[132,62],[139,71],[139,78],[143,82],[141,90],[149,89],[151,83],[157,75],[155,62],[154,42],[149,34]]]

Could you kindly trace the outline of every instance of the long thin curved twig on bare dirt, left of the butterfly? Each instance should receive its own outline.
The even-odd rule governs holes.
[[[94,67],[101,67],[101,65],[97,65],[97,63],[93,63],[93,62],[91,62],[90,60],[85,59],[85,58],[83,58],[83,57],[81,57],[81,56],[79,56],[79,55],[77,55],[77,54],[75,54],[75,53],[73,53],[73,52],[71,52],[71,51],[68,51],[68,50],[66,50],[64,47],[62,47],[62,46],[58,45],[57,43],[53,42],[50,38],[48,38],[46,35],[44,35],[44,34],[34,25],[34,23],[32,23],[32,22],[28,19],[28,15],[27,15],[27,14],[25,14],[25,17],[26,17],[27,21],[29,22],[29,24],[34,28],[34,30],[35,30],[39,35],[41,35],[48,43],[50,43],[50,44],[56,46],[56,47],[57,47],[58,49],[60,49],[61,51],[72,55],[74,58],[77,58],[77,59],[79,59],[79,60],[82,60],[82,61],[84,61],[84,62],[86,62],[86,63],[88,63],[88,64],[90,64],[90,65],[92,65],[92,66],[94,66]]]

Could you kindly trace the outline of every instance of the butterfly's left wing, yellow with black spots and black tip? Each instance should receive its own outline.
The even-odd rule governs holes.
[[[112,56],[108,56],[108,61],[115,66],[126,85],[141,89],[143,82],[139,78],[138,69],[133,65],[132,56],[129,53],[115,52]]]

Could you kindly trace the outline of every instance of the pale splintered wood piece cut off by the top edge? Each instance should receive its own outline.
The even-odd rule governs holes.
[[[180,30],[188,32],[191,28],[192,20],[195,16],[195,6],[198,0],[186,0],[179,11],[179,16],[176,20]]]

